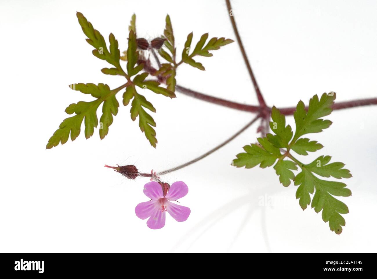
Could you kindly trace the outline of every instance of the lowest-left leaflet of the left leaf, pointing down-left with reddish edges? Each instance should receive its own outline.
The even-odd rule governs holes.
[[[75,113],[75,116],[68,117],[60,123],[59,129],[55,131],[49,139],[46,148],[57,146],[59,142],[64,144],[67,142],[69,134],[71,140],[75,140],[80,134],[81,123],[84,120],[85,124],[85,137],[89,139],[93,135],[94,127],[98,125],[97,109],[102,102],[102,116],[100,119],[100,138],[103,139],[108,131],[109,126],[113,122],[113,115],[118,113],[119,103],[116,101],[115,94],[120,89],[110,90],[107,84],[99,83],[98,85],[88,83],[71,84],[69,86],[73,90],[78,90],[84,94],[90,94],[97,100],[92,102],[80,101],[77,104],[70,104],[66,108],[67,114]]]

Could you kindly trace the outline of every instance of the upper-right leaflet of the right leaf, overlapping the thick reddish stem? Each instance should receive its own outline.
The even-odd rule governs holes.
[[[335,98],[335,92],[323,93],[321,99],[314,95],[309,101],[308,112],[305,110],[305,105],[302,101],[297,104],[296,111],[293,114],[296,121],[296,133],[292,142],[295,142],[304,134],[319,133],[323,129],[330,127],[333,122],[320,118],[329,115],[333,111],[331,106],[334,104]]]

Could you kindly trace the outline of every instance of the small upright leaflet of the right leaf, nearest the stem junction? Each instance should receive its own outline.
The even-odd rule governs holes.
[[[278,148],[287,148],[293,136],[291,126],[285,126],[285,115],[281,114],[275,106],[272,107],[271,118],[270,127],[276,135],[267,134],[268,140]]]

